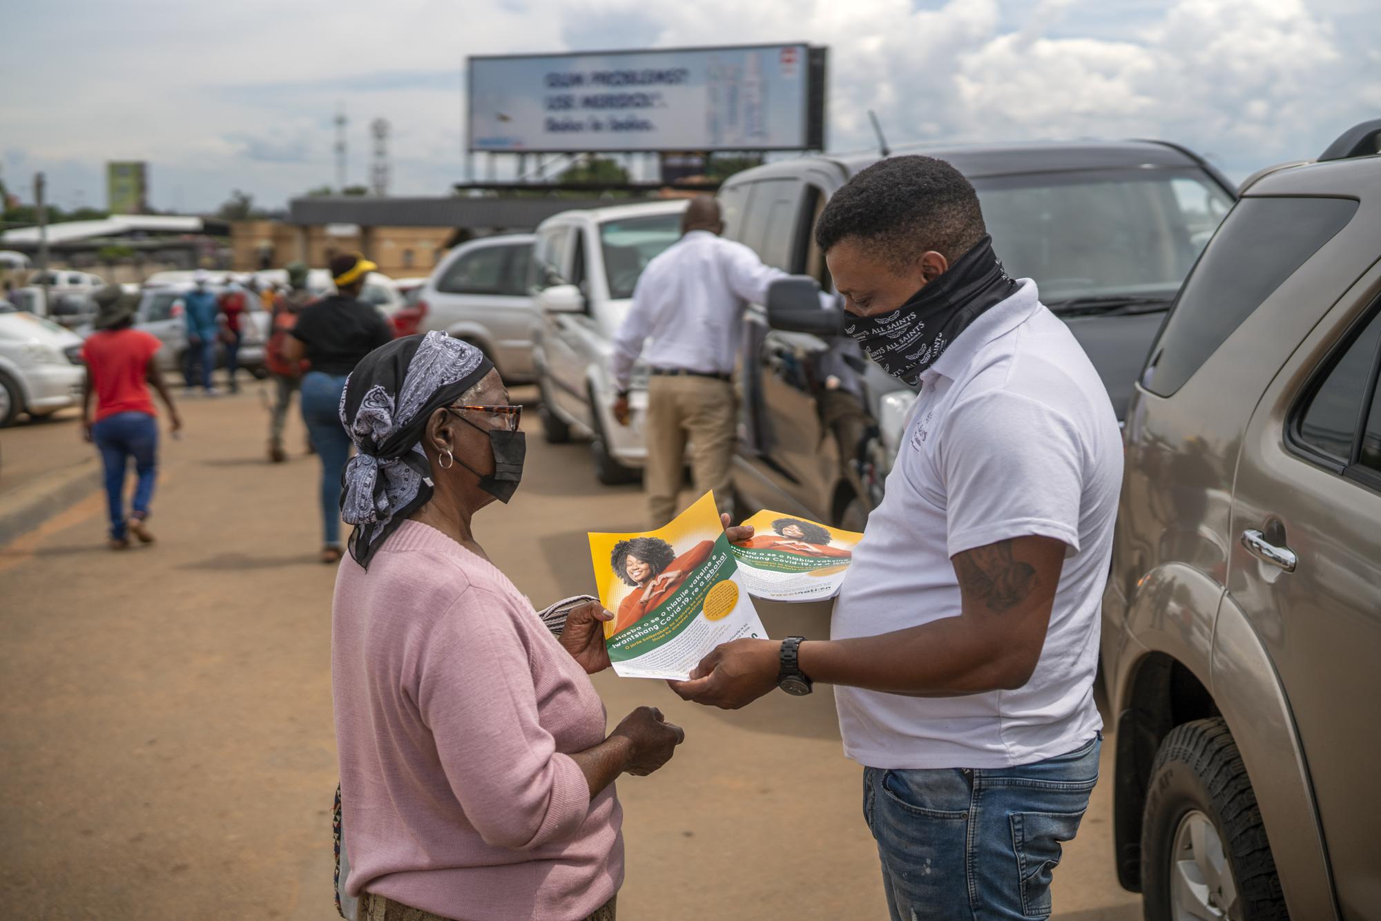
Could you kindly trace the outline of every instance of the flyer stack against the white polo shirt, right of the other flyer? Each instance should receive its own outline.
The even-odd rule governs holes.
[[[816,601],[834,598],[863,534],[782,512],[761,511],[744,525],[753,537],[729,544],[739,577],[754,598]]]

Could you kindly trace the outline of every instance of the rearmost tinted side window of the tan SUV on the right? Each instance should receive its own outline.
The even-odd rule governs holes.
[[[1178,391],[1272,291],[1341,231],[1351,199],[1243,199],[1204,249],[1160,337],[1142,384]]]

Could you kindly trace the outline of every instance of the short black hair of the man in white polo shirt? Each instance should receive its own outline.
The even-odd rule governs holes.
[[[855,175],[815,225],[822,253],[856,236],[899,266],[927,250],[953,264],[985,233],[972,184],[945,160],[916,155],[880,160]]]

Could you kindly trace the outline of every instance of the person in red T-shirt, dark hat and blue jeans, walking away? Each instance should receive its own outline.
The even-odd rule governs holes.
[[[95,442],[105,468],[105,492],[110,511],[110,550],[126,550],[130,533],[144,544],[153,543],[148,529],[149,503],[157,476],[159,424],[149,384],[163,398],[168,409],[173,432],[182,428],[182,420],[173,405],[173,395],[153,355],[162,342],[149,333],[131,329],[135,300],[122,293],[119,284],[108,284],[94,295],[95,331],[81,345],[87,378],[81,394],[81,435]],[[91,417],[91,396],[95,395],[95,418]],[[124,518],[124,474],[134,458],[137,483],[134,510]]]

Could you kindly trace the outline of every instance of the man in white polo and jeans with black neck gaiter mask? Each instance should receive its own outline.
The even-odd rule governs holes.
[[[1036,283],[993,253],[943,160],[859,173],[816,228],[889,374],[920,384],[831,638],[740,639],[686,682],[742,707],[836,688],[892,917],[1043,918],[1098,779],[1099,598],[1121,440],[1106,391]]]

